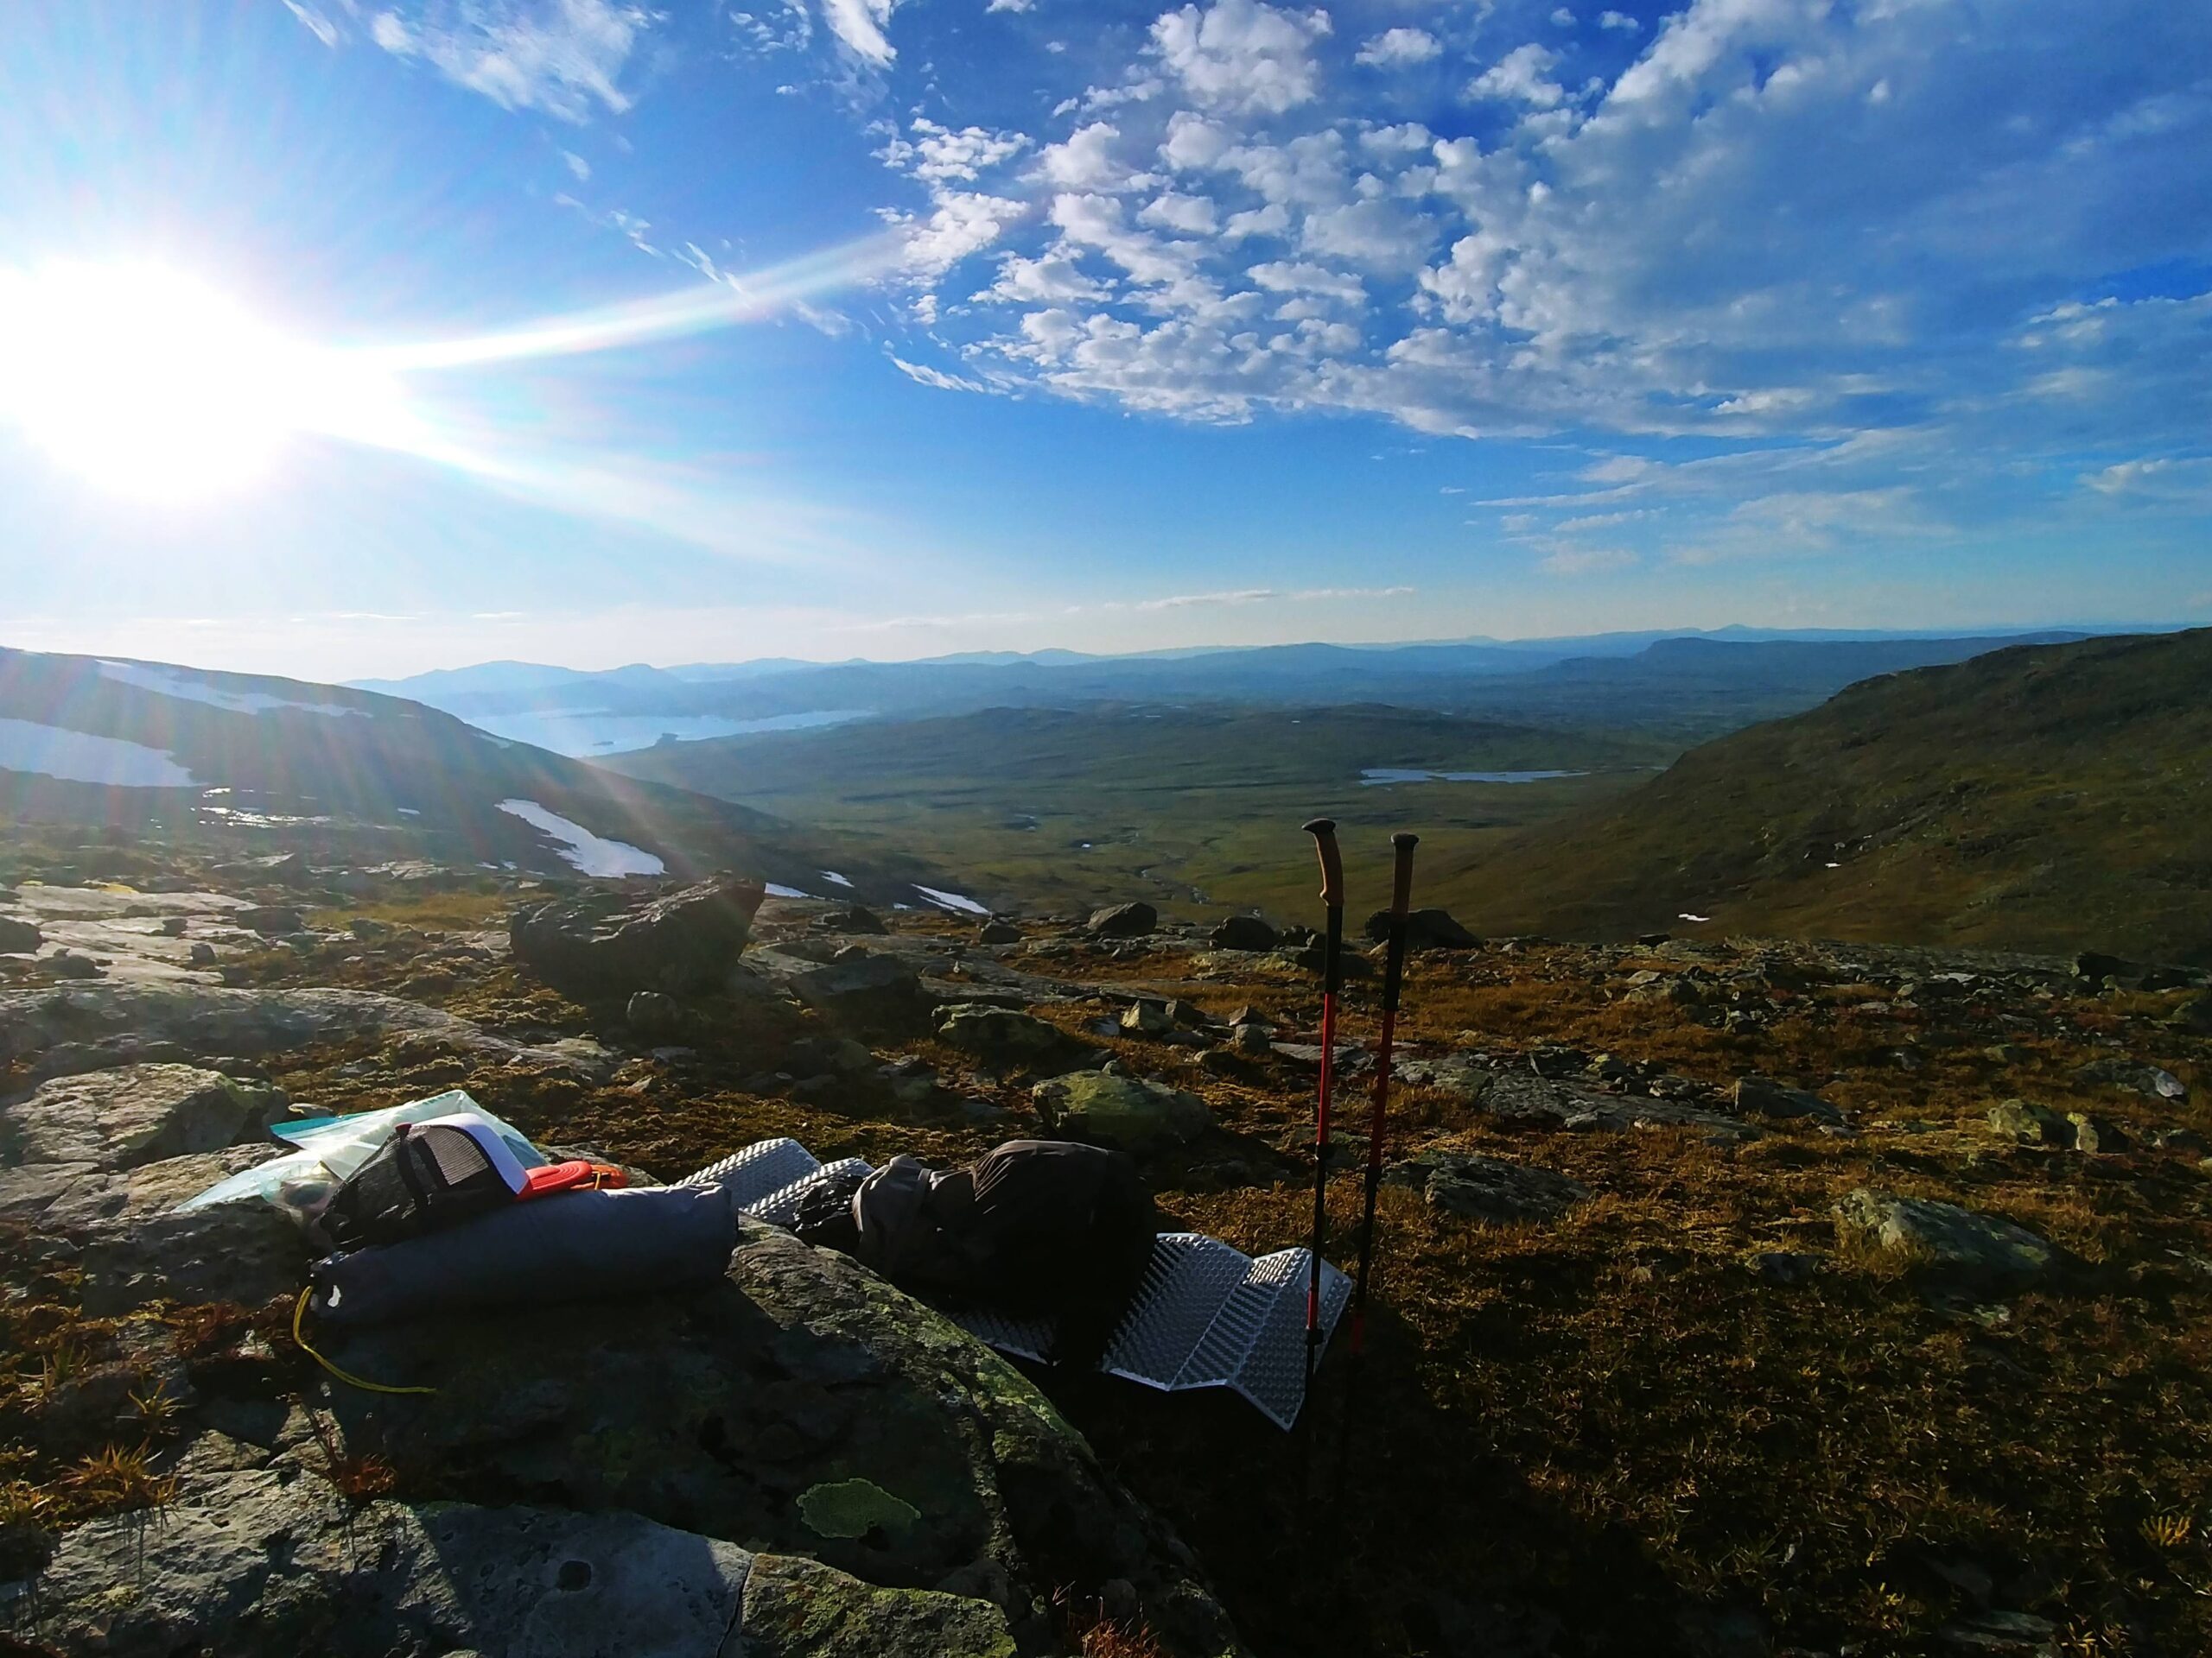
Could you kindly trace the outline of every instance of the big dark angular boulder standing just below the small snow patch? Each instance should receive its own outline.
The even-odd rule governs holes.
[[[717,875],[659,898],[582,893],[515,911],[515,959],[564,995],[690,995],[728,984],[765,889]]]

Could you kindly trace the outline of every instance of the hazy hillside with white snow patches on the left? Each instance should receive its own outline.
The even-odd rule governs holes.
[[[920,862],[597,772],[394,696],[20,650],[0,650],[0,814],[188,844],[566,875],[734,869],[876,902],[922,902],[916,880],[947,884]]]

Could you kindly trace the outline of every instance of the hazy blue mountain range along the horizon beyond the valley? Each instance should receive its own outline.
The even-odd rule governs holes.
[[[484,730],[580,756],[650,747],[661,736],[712,738],[776,725],[1106,701],[1391,703],[1484,718],[1668,727],[1694,741],[1812,707],[1869,674],[2079,637],[2079,630],[1942,637],[1721,628],[1141,657],[1051,650],[911,663],[759,661],[608,672],[480,663],[367,681],[365,688],[411,696]]]

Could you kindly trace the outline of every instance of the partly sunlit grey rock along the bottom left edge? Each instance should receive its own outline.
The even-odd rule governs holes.
[[[80,1525],[18,1629],[113,1658],[1013,1654],[987,1601],[883,1589],[639,1514],[356,1508],[296,1468],[199,1475],[153,1519]]]

